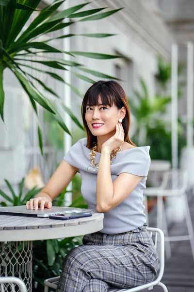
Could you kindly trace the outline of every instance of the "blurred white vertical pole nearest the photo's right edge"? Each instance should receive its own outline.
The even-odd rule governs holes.
[[[187,43],[187,147],[193,147],[194,139],[194,44]]]

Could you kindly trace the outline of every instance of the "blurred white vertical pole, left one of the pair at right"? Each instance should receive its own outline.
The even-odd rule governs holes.
[[[178,45],[171,49],[171,135],[172,167],[178,168]]]

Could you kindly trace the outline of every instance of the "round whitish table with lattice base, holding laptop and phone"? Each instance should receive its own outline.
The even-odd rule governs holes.
[[[33,240],[76,237],[103,228],[103,213],[82,210],[93,214],[70,220],[0,215],[0,276],[19,277],[32,292]]]

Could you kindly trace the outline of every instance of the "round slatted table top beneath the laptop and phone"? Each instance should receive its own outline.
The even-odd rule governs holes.
[[[79,236],[103,228],[103,213],[91,209],[91,217],[55,220],[23,216],[0,215],[0,241],[40,240]]]

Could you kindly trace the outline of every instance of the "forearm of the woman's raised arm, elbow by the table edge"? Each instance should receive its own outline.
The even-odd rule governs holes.
[[[103,150],[97,173],[97,211],[107,212],[113,200],[113,181],[111,177],[110,152]]]

